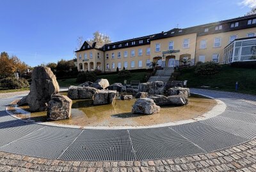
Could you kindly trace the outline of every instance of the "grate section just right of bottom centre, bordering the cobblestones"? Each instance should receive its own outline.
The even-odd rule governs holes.
[[[168,127],[131,129],[130,134],[137,160],[180,157],[204,152]]]

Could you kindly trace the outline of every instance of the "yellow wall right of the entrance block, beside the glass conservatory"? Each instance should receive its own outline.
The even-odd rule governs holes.
[[[218,34],[209,34],[205,36],[198,36],[196,40],[196,57],[195,62],[199,61],[200,55],[205,55],[205,62],[212,61],[213,54],[219,54],[219,61],[223,63],[224,48],[230,43],[230,36],[237,35],[237,38],[246,38],[250,32],[256,32],[255,28],[242,29],[231,32],[221,32]],[[214,38],[221,38],[221,46],[214,47]],[[200,42],[206,40],[206,48],[200,48]]]

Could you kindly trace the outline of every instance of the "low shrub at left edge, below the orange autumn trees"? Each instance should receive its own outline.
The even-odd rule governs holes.
[[[29,87],[28,80],[8,77],[0,80],[0,90],[26,89]]]

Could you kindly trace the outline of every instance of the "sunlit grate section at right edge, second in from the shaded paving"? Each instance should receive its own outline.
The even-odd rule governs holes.
[[[202,120],[201,122],[246,139],[251,140],[256,136],[256,125],[241,120],[227,117],[214,117]]]

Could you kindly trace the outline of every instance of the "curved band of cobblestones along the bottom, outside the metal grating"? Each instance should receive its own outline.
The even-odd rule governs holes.
[[[256,171],[256,140],[217,152],[154,161],[60,161],[0,152],[0,171]]]

